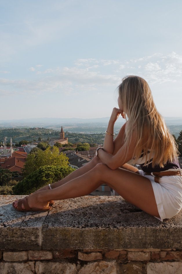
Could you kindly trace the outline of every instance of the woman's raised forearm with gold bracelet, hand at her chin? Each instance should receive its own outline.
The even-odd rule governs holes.
[[[114,133],[114,123],[116,122],[120,114],[123,115],[123,111],[121,111],[119,108],[113,108],[113,111],[109,120],[108,128],[107,128],[108,133],[110,134]],[[107,133],[105,134],[103,149],[105,152],[112,154],[114,152],[114,141],[113,141],[114,136],[110,134],[107,134]]]

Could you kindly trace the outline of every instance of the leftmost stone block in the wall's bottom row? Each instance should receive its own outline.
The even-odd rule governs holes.
[[[33,274],[34,272],[34,262],[26,263],[0,263],[0,273],[1,274]]]

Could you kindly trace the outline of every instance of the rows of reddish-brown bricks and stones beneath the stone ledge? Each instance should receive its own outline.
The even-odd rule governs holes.
[[[182,273],[182,250],[3,250],[0,273]]]

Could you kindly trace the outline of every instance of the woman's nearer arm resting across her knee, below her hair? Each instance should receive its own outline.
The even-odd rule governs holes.
[[[104,150],[98,150],[98,156],[101,161],[111,169],[117,169],[133,158],[133,151],[136,146],[136,129],[133,130],[130,146],[128,150],[122,146],[115,155]]]

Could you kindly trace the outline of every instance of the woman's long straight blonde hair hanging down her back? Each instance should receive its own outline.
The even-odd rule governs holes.
[[[131,134],[136,127],[136,147],[132,163],[137,163],[141,153],[144,153],[147,164],[148,149],[152,167],[163,167],[168,161],[177,158],[178,150],[173,136],[170,134],[163,117],[158,113],[148,83],[139,76],[126,76],[119,88],[119,98],[123,111],[127,113],[128,122],[125,129],[126,151],[131,142]],[[144,141],[147,132],[148,140]]]

